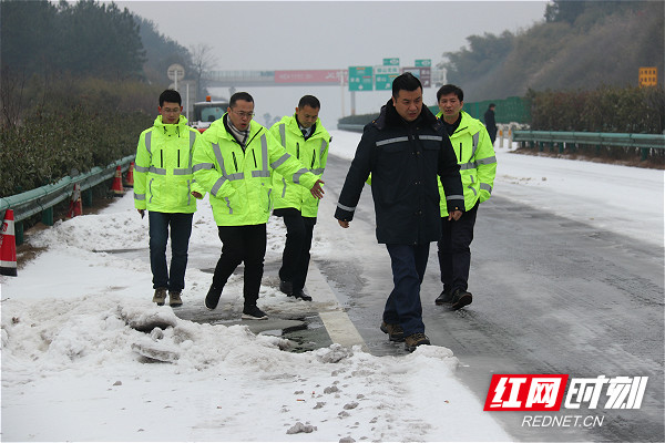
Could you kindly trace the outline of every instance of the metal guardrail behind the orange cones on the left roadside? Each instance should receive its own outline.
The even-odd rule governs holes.
[[[53,225],[53,206],[65,198],[71,198],[76,183],[80,185],[82,193],[91,189],[100,183],[113,177],[117,166],[120,166],[123,172],[127,171],[130,163],[134,161],[134,157],[135,155],[130,155],[113,162],[105,168],[95,166],[85,174],[73,177],[63,177],[51,185],[41,186],[37,189],[9,197],[0,197],[0,219],[4,218],[4,212],[7,209],[13,209],[14,223],[17,224],[17,244],[20,245],[22,243],[23,234],[22,220],[42,213],[42,222],[44,222],[45,225]],[[92,199],[92,196],[90,198]]]

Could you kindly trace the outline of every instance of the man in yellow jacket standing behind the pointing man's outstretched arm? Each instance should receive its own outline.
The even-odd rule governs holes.
[[[270,133],[291,156],[317,177],[321,177],[328,161],[330,134],[318,117],[321,104],[314,95],[298,102],[296,113],[284,116],[270,127]],[[300,185],[288,182],[278,172],[273,174],[273,214],[283,217],[286,243],[279,268],[279,289],[289,297],[311,301],[305,293],[309,267],[309,249],[319,199]]]

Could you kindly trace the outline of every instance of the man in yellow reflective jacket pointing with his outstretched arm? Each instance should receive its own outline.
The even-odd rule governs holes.
[[[316,198],[324,196],[324,182],[291,157],[253,116],[252,95],[233,94],[226,114],[203,133],[195,147],[194,177],[211,194],[223,245],[205,307],[217,307],[228,277],[244,262],[242,317],[263,320],[268,317],[256,302],[266,253],[273,169],[310,189]]]

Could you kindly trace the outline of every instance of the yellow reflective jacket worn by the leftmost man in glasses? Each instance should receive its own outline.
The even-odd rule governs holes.
[[[134,168],[134,207],[158,213],[196,212],[192,192],[204,194],[192,173],[193,148],[198,131],[181,115],[176,124],[155,119],[139,137]]]

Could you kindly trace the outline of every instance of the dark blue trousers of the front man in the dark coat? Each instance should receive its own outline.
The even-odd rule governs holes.
[[[420,284],[427,268],[429,244],[386,245],[386,248],[390,254],[395,288],[386,300],[383,321],[400,324],[405,336],[424,332]]]

